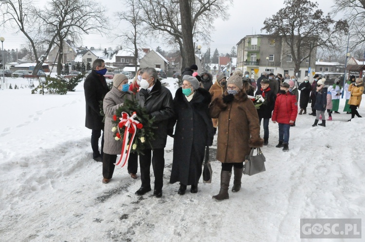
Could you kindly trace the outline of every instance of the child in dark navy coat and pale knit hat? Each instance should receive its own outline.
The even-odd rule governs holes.
[[[325,117],[325,110],[327,106],[327,90],[328,87],[325,86],[326,79],[322,78],[317,82],[317,91],[315,97],[315,104],[314,108],[316,110],[316,118],[312,125],[312,127],[317,126],[319,117],[321,116],[322,123],[318,124],[320,126],[326,127],[326,117]]]

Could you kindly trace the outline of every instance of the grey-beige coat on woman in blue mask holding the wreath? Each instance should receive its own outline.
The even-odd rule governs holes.
[[[113,115],[116,114],[116,110],[123,105],[126,99],[132,99],[133,92],[120,91],[113,86],[110,92],[105,95],[103,101],[103,108],[105,113],[105,125],[104,125],[104,147],[103,152],[109,155],[120,155],[122,150],[122,142],[115,140],[114,132],[111,131],[115,124],[112,123]]]

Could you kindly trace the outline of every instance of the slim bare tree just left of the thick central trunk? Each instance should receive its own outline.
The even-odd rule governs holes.
[[[139,0],[124,0],[124,6],[129,8],[124,12],[118,12],[118,17],[127,21],[128,27],[122,35],[118,35],[123,39],[123,43],[126,46],[126,50],[133,54],[133,61],[135,63],[135,73],[137,74],[137,63],[138,63],[138,46],[144,44],[144,36],[146,36],[143,21],[141,19],[142,7],[139,5]],[[129,47],[132,45],[133,47]]]

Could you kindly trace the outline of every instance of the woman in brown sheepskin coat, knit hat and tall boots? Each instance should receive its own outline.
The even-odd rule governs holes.
[[[217,160],[222,162],[218,201],[229,199],[228,188],[234,168],[232,191],[239,191],[245,156],[251,148],[262,147],[260,125],[254,103],[243,90],[242,77],[234,73],[227,80],[227,91],[209,107],[211,118],[218,119]]]

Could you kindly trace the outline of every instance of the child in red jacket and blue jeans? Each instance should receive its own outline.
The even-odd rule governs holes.
[[[296,97],[290,94],[289,87],[288,83],[280,85],[272,118],[274,123],[278,122],[279,124],[279,143],[276,147],[283,147],[283,151],[289,151],[290,125],[294,123],[298,113]]]

